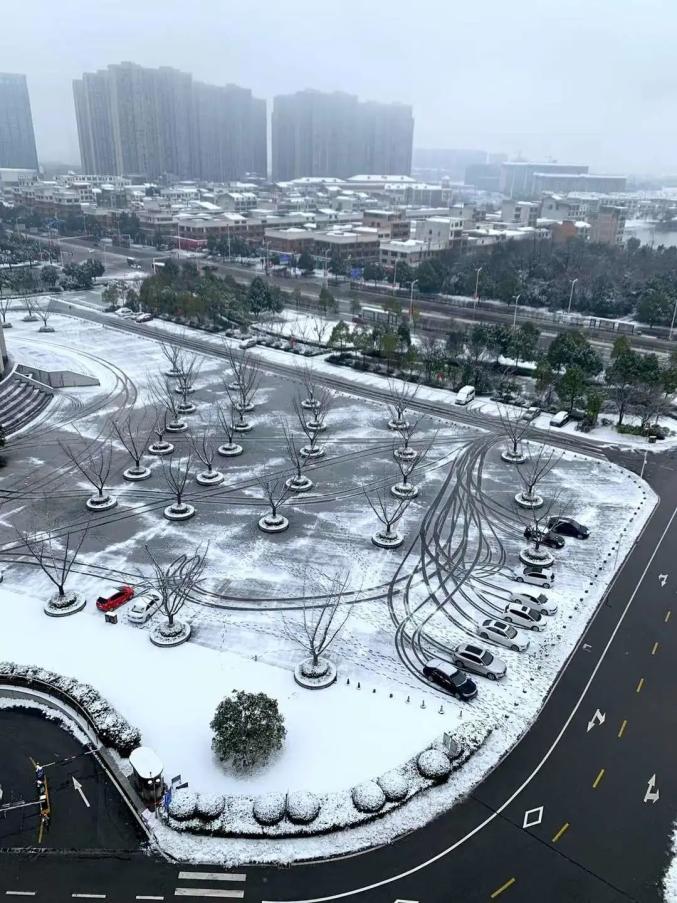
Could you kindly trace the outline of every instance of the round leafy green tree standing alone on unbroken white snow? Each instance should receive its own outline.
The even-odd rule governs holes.
[[[277,700],[244,690],[233,690],[219,703],[210,727],[216,755],[239,769],[267,762],[287,733]]]

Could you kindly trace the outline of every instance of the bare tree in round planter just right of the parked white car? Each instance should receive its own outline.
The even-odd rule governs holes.
[[[146,552],[153,566],[153,576],[148,580],[150,587],[160,597],[160,610],[167,618],[166,623],[155,628],[152,639],[161,645],[183,642],[190,636],[190,625],[176,620],[191,595],[200,588],[209,546],[202,552],[196,547],[192,554],[185,552],[162,564],[148,546]]]

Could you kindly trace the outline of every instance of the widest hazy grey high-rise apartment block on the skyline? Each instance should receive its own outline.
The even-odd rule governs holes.
[[[229,181],[266,172],[265,101],[170,67],[133,63],[73,82],[88,173]]]

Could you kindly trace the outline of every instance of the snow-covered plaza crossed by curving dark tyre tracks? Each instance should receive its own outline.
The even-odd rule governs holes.
[[[135,462],[115,424],[121,429],[131,418],[152,441],[158,382],[168,370],[160,341],[177,333],[154,323],[153,340],[56,314],[50,324],[55,332],[45,335],[37,324],[15,320],[12,356],[36,368],[91,376],[99,385],[59,390],[8,447],[8,464],[0,471],[0,661],[91,684],[140,729],[166,775],[180,773],[191,791],[241,797],[250,807],[266,794],[309,791],[335,808],[345,800],[347,810],[351,788],[403,767],[439,745],[444,733],[475,741],[446,782],[412,791],[411,799],[350,831],[303,838],[263,832],[252,841],[153,825],[159,843],[177,856],[231,863],[323,856],[383,843],[452,806],[536,717],[655,504],[652,491],[629,471],[570,448],[552,451],[538,493],[587,525],[590,538],[567,538],[563,549],[551,550],[556,582],[547,595],[556,613],[546,617],[542,632],[520,632],[529,639],[525,651],[489,645],[507,663],[506,677],[474,677],[477,697],[459,702],[424,678],[425,662],[477,640],[478,626],[499,618],[511,593],[540,591],[513,579],[522,569],[524,530],[533,517],[515,504],[523,486],[518,467],[501,459],[506,439],[495,423],[482,417],[455,421],[452,405],[435,407],[431,393],[421,394],[405,415],[417,421],[411,445],[420,459],[405,476],[402,460],[398,465],[393,456],[403,440],[399,429],[389,427],[392,410],[383,400],[360,397],[357,383],[351,394],[347,380],[357,381],[357,374],[323,386],[327,373],[334,381],[344,374],[318,360],[310,366],[318,392],[327,396],[325,428],[314,434],[320,453],[304,455],[310,446],[297,408],[308,400],[308,365],[294,355],[252,349],[248,356],[260,365],[253,409],[241,405],[251,429],[235,426],[228,437],[215,404],[229,406],[234,390],[226,387],[237,374],[227,340],[210,337],[214,353],[198,355],[192,391],[183,397],[177,392],[186,428],[166,432],[173,453],[143,451],[139,473],[149,468],[150,477],[125,478]],[[232,350],[240,359],[237,344]],[[379,383],[383,394],[386,381],[374,376],[363,389]],[[312,406],[303,410],[313,416]],[[200,453],[229,438],[241,454]],[[282,488],[297,472],[290,441],[303,457],[302,475],[312,482],[306,491]],[[527,451],[535,454],[538,446],[532,436]],[[88,510],[92,485],[69,451],[92,457],[107,449],[110,474],[102,495],[116,503]],[[194,513],[176,521],[167,516],[177,504],[168,471],[179,465],[186,468],[180,507]],[[197,479],[204,474],[210,476]],[[372,537],[384,532],[379,505],[397,509],[402,500],[391,490],[403,481],[418,490],[405,492],[393,525],[403,542],[378,547]],[[282,499],[275,518],[288,521],[279,532],[259,526],[270,513],[266,484]],[[72,617],[48,618],[43,609],[54,588],[17,531],[35,536],[52,525],[63,543],[88,522],[68,578],[68,588],[87,604]],[[146,547],[160,559],[197,548],[206,556],[199,591],[180,612],[190,639],[176,648],[150,641],[161,612],[135,625],[128,604],[113,624],[95,607],[97,597],[120,584],[144,585],[151,572]],[[293,635],[304,611],[321,609],[327,579],[335,574],[347,581],[342,605],[350,609],[327,653],[336,681],[306,689],[294,677],[304,652]],[[211,750],[209,722],[233,689],[277,699],[287,728],[280,752],[247,773],[224,767]],[[347,812],[344,822],[354,823]]]

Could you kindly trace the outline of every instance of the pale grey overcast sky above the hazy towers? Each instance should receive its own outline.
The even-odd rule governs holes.
[[[131,60],[411,103],[417,147],[674,173],[676,47],[676,0],[3,0],[0,70],[43,161],[78,160],[72,79]]]

